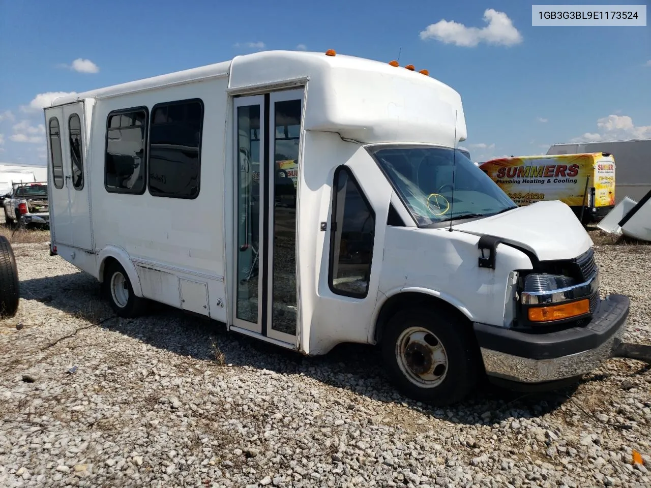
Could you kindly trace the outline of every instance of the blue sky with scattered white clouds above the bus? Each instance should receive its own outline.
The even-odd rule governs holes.
[[[0,161],[45,163],[53,92],[329,48],[387,62],[402,48],[401,65],[460,92],[475,161],[651,137],[649,25],[532,27],[521,0],[0,0]]]

